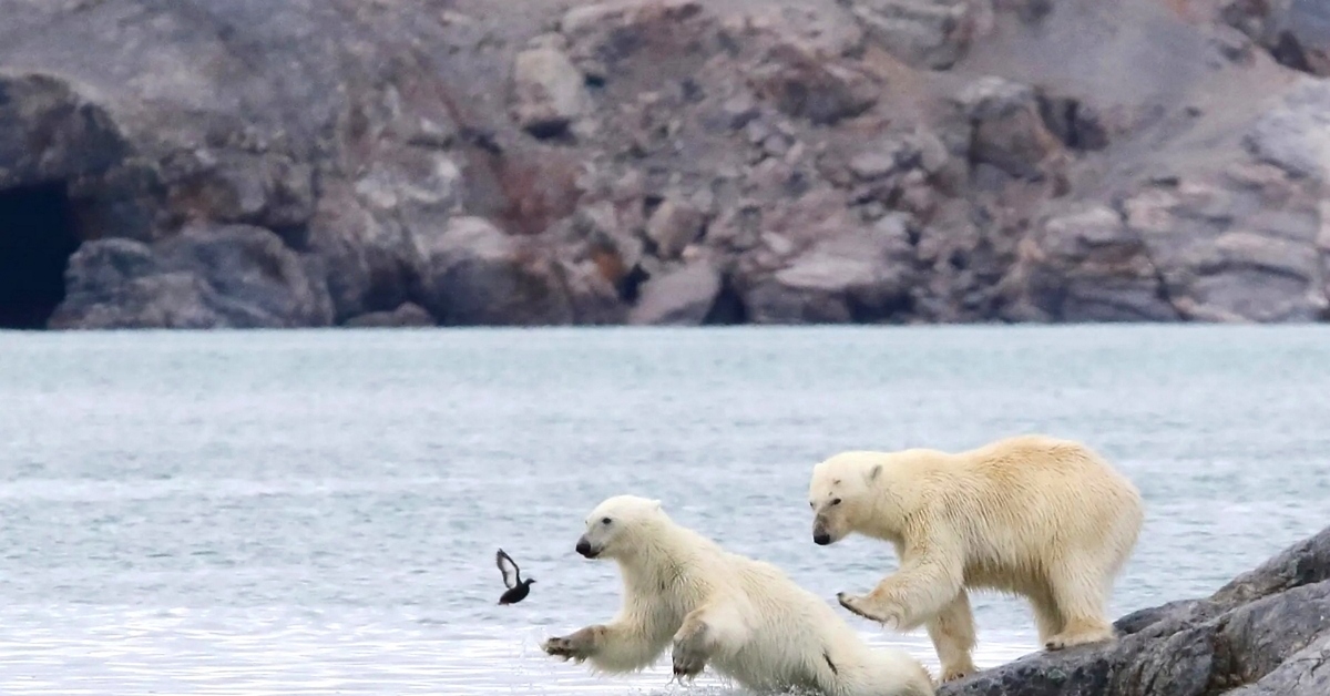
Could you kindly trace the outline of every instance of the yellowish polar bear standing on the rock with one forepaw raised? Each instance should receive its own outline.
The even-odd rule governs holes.
[[[1029,599],[1047,649],[1112,640],[1104,604],[1144,516],[1140,492],[1103,458],[1044,435],[959,454],[842,452],[813,468],[809,504],[818,546],[858,532],[895,547],[898,572],[837,599],[898,629],[923,624],[943,681],[975,672],[967,590]]]

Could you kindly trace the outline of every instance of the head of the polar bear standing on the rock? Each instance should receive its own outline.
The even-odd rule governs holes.
[[[809,507],[813,543],[827,546],[863,528],[879,500],[883,462],[874,452],[842,452],[813,467]]]

